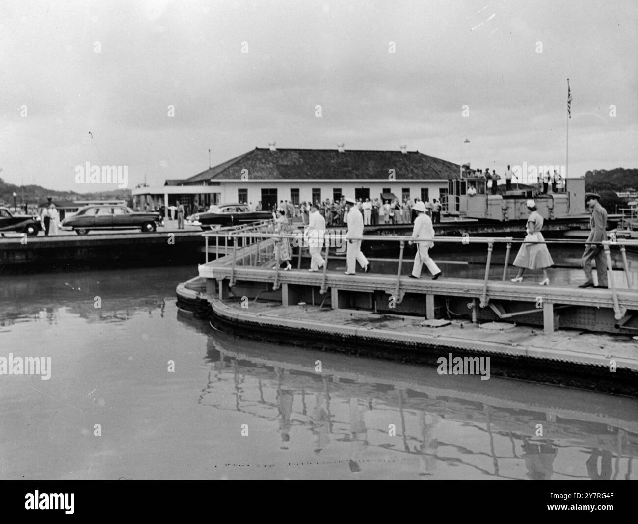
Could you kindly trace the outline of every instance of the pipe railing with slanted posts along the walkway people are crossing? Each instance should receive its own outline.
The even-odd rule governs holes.
[[[209,246],[209,238],[215,237],[217,240],[217,253],[219,254],[219,238],[226,238],[226,246],[225,246],[225,255],[228,255],[228,241],[232,240],[232,273],[231,273],[231,285],[234,284],[235,279],[235,266],[241,263],[242,266],[246,266],[246,259],[248,258],[249,266],[259,266],[259,262],[261,259],[261,247],[262,243],[265,243],[265,240],[271,240],[269,245],[273,245],[276,242],[282,242],[283,240],[289,240],[293,247],[299,247],[298,252],[298,260],[297,260],[297,269],[301,266],[301,256],[302,256],[302,247],[308,247],[309,244],[313,242],[321,242],[321,240],[315,240],[316,236],[312,236],[308,238],[308,236],[304,237],[301,231],[299,233],[292,234],[281,234],[281,233],[273,233],[272,228],[274,224],[272,222],[266,222],[261,224],[253,224],[252,226],[242,226],[239,228],[227,228],[227,229],[219,229],[218,231],[210,231],[204,233],[203,236],[206,238],[206,247],[208,252]],[[267,231],[270,229],[269,231]],[[329,231],[327,229],[327,231]],[[255,251],[255,265],[253,265],[253,252],[249,251],[248,256],[244,254],[241,258],[237,257],[237,239],[242,238],[242,247],[251,247],[253,251]],[[487,296],[487,286],[489,282],[489,274],[492,267],[492,254],[494,250],[494,245],[496,244],[505,244],[505,261],[503,263],[503,273],[501,280],[507,279],[507,271],[509,266],[510,254],[512,249],[512,244],[547,244],[551,245],[581,245],[584,247],[585,245],[602,245],[605,252],[605,259],[607,261],[607,271],[610,273],[611,278],[609,279],[609,287],[611,288],[612,300],[614,304],[614,316],[617,320],[620,320],[625,312],[619,305],[618,301],[618,289],[616,287],[616,282],[612,276],[612,272],[614,270],[614,266],[612,264],[611,258],[611,247],[619,247],[620,255],[621,255],[621,270],[625,273],[625,280],[627,282],[627,289],[630,291],[638,291],[632,289],[632,279],[630,277],[628,271],[628,261],[627,261],[627,246],[638,246],[638,240],[619,240],[613,238],[612,240],[607,240],[604,242],[583,242],[582,240],[577,239],[561,239],[561,240],[545,240],[544,242],[526,242],[523,238],[515,239],[512,237],[435,237],[435,238],[420,238],[414,239],[412,237],[403,237],[397,235],[365,235],[364,237],[350,238],[346,240],[345,233],[339,231],[338,233],[326,233],[322,237],[322,249],[325,247],[325,264],[323,265],[323,278],[322,278],[322,286],[320,289],[320,293],[323,295],[327,292],[327,268],[330,257],[330,248],[331,247],[346,247],[346,242],[348,240],[362,240],[364,242],[369,241],[378,241],[383,242],[385,244],[390,244],[392,242],[396,242],[399,245],[399,259],[397,260],[397,274],[396,274],[396,284],[395,284],[395,295],[397,303],[401,302],[401,270],[403,268],[403,256],[406,242],[413,242],[415,244],[419,242],[434,242],[435,244],[485,244],[487,247],[487,256],[486,256],[486,265],[483,279],[483,287],[482,287],[482,295],[480,297],[480,307],[484,308],[489,305],[489,298]],[[326,247],[327,246],[327,247]],[[279,249],[274,250],[277,254],[276,266],[274,267],[275,279],[273,289],[279,289],[279,266],[281,265],[281,260],[279,260]],[[344,249],[345,251],[345,249]],[[273,254],[273,256],[275,256]],[[272,258],[268,258],[272,261]],[[207,258],[208,261],[208,258]]]

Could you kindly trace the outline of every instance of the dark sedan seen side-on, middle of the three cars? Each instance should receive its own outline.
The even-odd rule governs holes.
[[[64,219],[63,229],[73,229],[78,235],[86,235],[91,229],[142,229],[155,231],[163,224],[159,213],[137,213],[126,206],[95,205],[80,209]]]

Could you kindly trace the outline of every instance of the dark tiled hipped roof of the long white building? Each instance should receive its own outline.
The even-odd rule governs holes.
[[[246,170],[246,171],[243,171]],[[277,149],[256,147],[214,168],[182,180],[179,184],[201,184],[212,179],[314,180],[352,178],[388,180],[434,180],[457,177],[460,166],[418,151],[337,149]],[[168,183],[168,181],[167,181]],[[177,185],[177,184],[175,184]]]

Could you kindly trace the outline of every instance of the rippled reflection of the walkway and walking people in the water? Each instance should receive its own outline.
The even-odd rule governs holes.
[[[281,451],[296,440],[315,460],[339,456],[352,476],[400,462],[402,477],[423,480],[602,480],[611,479],[615,458],[614,477],[629,479],[638,451],[638,413],[628,398],[503,379],[485,387],[449,377],[443,388],[428,369],[220,333],[210,335],[208,358],[202,404],[271,421]]]

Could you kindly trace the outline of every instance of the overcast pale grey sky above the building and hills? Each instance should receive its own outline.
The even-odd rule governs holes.
[[[637,27],[635,0],[3,0],[0,177],[158,185],[271,141],[565,164],[567,78],[569,176],[636,168]]]

